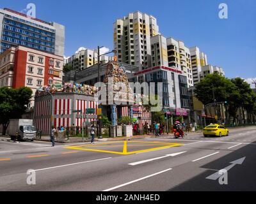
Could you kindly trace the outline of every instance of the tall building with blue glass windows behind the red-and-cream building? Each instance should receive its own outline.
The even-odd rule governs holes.
[[[64,25],[31,18],[8,8],[0,9],[0,53],[21,45],[63,56],[64,41]]]

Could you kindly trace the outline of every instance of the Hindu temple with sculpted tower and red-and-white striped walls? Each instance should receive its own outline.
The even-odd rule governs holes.
[[[53,84],[39,87],[35,94],[34,124],[43,134],[51,133],[51,126],[58,128],[79,127],[86,123],[97,123],[99,117],[97,110],[101,108],[102,115],[108,117],[113,126],[118,119],[129,116],[137,118],[141,123],[151,124],[151,114],[142,103],[135,104],[136,98],[141,95],[134,94],[125,70],[115,62],[109,62],[104,78],[105,85],[109,85],[109,78],[113,78],[113,96],[118,103],[100,103],[97,96],[99,88],[84,84]],[[108,91],[107,91],[108,94]],[[142,97],[143,98],[143,97]],[[126,103],[125,103],[126,102]],[[87,110],[92,113],[86,113]],[[77,112],[77,111],[81,112]]]

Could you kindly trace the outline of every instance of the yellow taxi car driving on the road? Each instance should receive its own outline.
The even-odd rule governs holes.
[[[228,136],[229,130],[220,124],[211,124],[206,126],[203,130],[204,136],[212,135],[212,136]]]

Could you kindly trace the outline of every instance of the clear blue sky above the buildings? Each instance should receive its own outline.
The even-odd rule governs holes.
[[[221,66],[228,78],[256,77],[255,0],[1,0],[1,8],[21,11],[36,4],[36,17],[65,25],[65,55],[79,47],[113,48],[113,22],[140,10],[157,18],[159,31],[198,46],[209,64]],[[228,19],[218,18],[220,3],[228,5]]]

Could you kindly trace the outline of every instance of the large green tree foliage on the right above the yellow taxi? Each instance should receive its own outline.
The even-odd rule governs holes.
[[[256,94],[250,85],[239,77],[230,80],[217,73],[207,75],[196,85],[195,94],[204,105],[227,101],[225,108],[234,120],[237,119],[239,108],[243,110],[243,119],[245,119],[244,110],[251,115],[255,115],[256,112]]]

